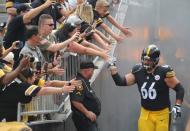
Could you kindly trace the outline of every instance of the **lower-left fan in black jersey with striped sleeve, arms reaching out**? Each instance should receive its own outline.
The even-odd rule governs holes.
[[[51,86],[49,83],[47,85],[41,83],[39,86],[34,84],[35,80],[35,72],[31,68],[25,68],[11,84],[3,87],[3,91],[0,91],[0,121],[3,119],[8,122],[16,121],[19,102],[29,103],[35,96],[69,93],[75,89],[75,83],[77,84],[77,81],[71,85],[67,85],[64,81],[54,81],[51,82],[52,85],[54,83],[54,85],[60,86]],[[38,84],[40,84],[39,82]]]

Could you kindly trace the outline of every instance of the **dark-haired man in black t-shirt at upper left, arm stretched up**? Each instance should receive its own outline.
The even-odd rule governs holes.
[[[7,27],[7,32],[4,37],[4,47],[7,49],[11,47],[14,41],[22,41],[25,43],[25,31],[26,25],[31,22],[31,20],[36,17],[42,10],[49,7],[55,0],[47,0],[43,5],[32,9],[29,11],[30,7],[28,5],[20,6],[17,9],[18,16],[13,18]],[[18,61],[20,50],[14,50],[14,61]]]

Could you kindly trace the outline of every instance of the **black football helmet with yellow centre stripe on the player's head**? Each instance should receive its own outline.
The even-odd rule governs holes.
[[[156,45],[149,45],[147,48],[144,48],[141,55],[141,62],[146,70],[153,69],[158,64],[159,59],[160,59],[160,50]],[[144,60],[149,60],[152,63],[144,64]]]

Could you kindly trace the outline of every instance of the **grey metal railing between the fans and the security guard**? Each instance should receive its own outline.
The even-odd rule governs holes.
[[[64,53],[62,67],[65,69],[63,77],[51,77],[56,80],[71,80],[79,69],[80,61],[94,59],[90,56],[73,56]],[[98,57],[96,58],[98,59]],[[38,96],[32,99],[29,104],[18,104],[17,121],[28,122],[28,124],[39,124],[49,122],[60,122],[70,115],[71,105],[68,94],[56,94]]]

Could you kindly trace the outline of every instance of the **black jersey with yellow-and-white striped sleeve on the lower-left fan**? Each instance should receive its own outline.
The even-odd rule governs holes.
[[[0,90],[0,121],[16,121],[18,102],[29,103],[39,91],[39,86],[16,80],[4,86]]]

